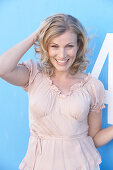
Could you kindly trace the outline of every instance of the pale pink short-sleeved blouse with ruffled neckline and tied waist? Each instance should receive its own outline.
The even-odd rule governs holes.
[[[91,74],[62,94],[35,60],[22,63],[30,72],[23,87],[29,96],[30,138],[20,170],[94,170],[101,163],[88,136],[90,111],[104,107],[104,86]]]

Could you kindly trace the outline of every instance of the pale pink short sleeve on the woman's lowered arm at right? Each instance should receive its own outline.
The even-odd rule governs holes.
[[[91,83],[91,94],[92,94],[92,100],[91,100],[91,106],[90,106],[90,112],[91,111],[99,111],[105,108],[104,105],[104,99],[105,99],[105,89],[103,83],[94,78],[92,79]]]

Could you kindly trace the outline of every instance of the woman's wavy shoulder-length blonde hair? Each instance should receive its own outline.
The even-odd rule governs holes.
[[[54,73],[54,66],[49,60],[48,45],[56,36],[70,30],[77,34],[79,49],[74,63],[70,68],[70,73],[84,71],[88,65],[86,53],[88,52],[87,32],[78,19],[71,15],[55,14],[45,19],[39,27],[37,39],[35,41],[35,52],[40,54],[42,70],[49,76]]]

